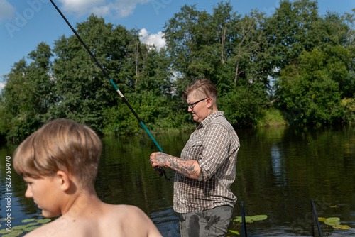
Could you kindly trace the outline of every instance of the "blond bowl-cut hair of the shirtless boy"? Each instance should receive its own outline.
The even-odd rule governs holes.
[[[65,118],[45,124],[16,148],[13,166],[23,177],[55,175],[58,170],[91,188],[97,175],[102,143],[97,134]]]

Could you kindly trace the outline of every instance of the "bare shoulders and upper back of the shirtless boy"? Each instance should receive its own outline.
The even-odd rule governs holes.
[[[95,209],[95,208],[94,208]],[[139,227],[139,228],[138,228]],[[161,236],[153,221],[137,206],[101,204],[86,216],[60,216],[26,237]]]

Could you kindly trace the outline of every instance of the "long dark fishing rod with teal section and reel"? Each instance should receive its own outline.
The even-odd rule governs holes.
[[[89,53],[89,55],[91,55],[92,59],[96,62],[96,64],[100,67],[100,69],[102,70],[102,72],[104,72],[104,75],[107,77],[107,79],[109,79],[109,82],[111,82],[112,86],[114,86],[114,89],[116,89],[116,92],[119,93],[119,96],[124,100],[124,103],[129,106],[129,109],[131,110],[131,112],[134,114],[134,116],[136,116],[137,120],[139,123],[141,123],[141,126],[144,128],[144,130],[148,133],[148,136],[153,140],[153,142],[155,143],[155,145],[158,147],[158,149],[160,150],[160,152],[163,153],[163,149],[160,148],[160,145],[157,143],[157,141],[154,139],[154,137],[152,136],[151,132],[149,132],[148,128],[146,127],[146,125],[144,125],[143,121],[141,120],[141,118],[139,118],[138,114],[136,113],[136,111],[134,111],[134,109],[132,108],[131,104],[129,104],[129,101],[127,101],[127,99],[124,97],[124,94],[121,93],[121,91],[119,90],[119,88],[116,86],[116,84],[114,83],[114,81],[111,79],[111,77],[109,77],[109,75],[107,74],[106,70],[104,70],[104,67],[102,67],[102,65],[100,64],[100,62],[97,60],[97,58],[94,56],[94,54],[89,50],[89,48],[87,47],[87,45],[84,43],[84,41],[82,40],[82,38],[80,38],[80,35],[77,34],[77,31],[75,31],[74,28],[72,28],[72,25],[70,24],[69,21],[67,21],[67,18],[65,18],[65,16],[63,15],[62,11],[60,11],[60,9],[58,8],[57,5],[55,5],[55,3],[53,2],[53,0],[50,0],[50,2],[53,4],[53,6],[55,7],[55,9],[57,9],[58,13],[60,13],[60,16],[62,16],[62,18],[64,19],[64,21],[67,23],[67,25],[72,29],[72,32],[75,33],[75,35],[77,36],[77,38],[80,40],[80,43],[82,43],[82,45],[84,46],[84,48],[87,50],[87,52]],[[165,177],[165,180],[170,180],[168,177],[166,177],[165,175],[165,171],[163,170],[163,168],[161,167],[154,167],[154,170],[158,173],[158,175]]]

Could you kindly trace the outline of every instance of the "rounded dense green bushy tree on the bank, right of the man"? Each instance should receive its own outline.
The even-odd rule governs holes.
[[[289,123],[332,124],[342,118],[341,92],[334,79],[337,58],[320,50],[304,51],[297,64],[288,65],[278,82],[280,108],[297,111]]]

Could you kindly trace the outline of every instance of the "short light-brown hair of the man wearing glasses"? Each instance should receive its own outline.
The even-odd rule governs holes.
[[[189,94],[193,93],[194,97],[203,99],[203,97],[211,98],[217,102],[218,90],[209,79],[197,79],[190,84],[183,92],[183,98],[186,100]]]

